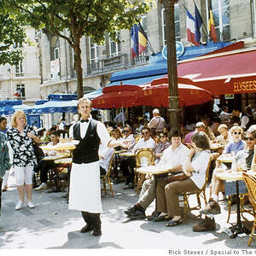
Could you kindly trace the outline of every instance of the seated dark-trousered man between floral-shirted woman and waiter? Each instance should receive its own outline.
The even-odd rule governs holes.
[[[50,135],[50,143],[47,146],[55,146],[60,142],[60,137],[57,131],[53,131]],[[51,150],[51,151],[44,151],[44,155],[57,155],[60,152]],[[40,170],[40,180],[41,185],[36,188],[35,190],[42,190],[47,189],[47,180],[48,180],[48,171],[55,167],[54,160],[40,160],[38,166],[36,167],[36,172]]]

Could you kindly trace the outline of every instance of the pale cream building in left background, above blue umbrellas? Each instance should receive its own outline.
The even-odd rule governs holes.
[[[26,27],[26,38],[32,44],[22,45],[23,61],[15,66],[0,66],[0,100],[19,98],[33,105],[41,98],[39,51],[33,28]]]

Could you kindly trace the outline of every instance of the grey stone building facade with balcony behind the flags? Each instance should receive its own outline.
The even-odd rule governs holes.
[[[142,26],[148,35],[151,47],[143,55],[131,58],[131,32],[120,31],[121,43],[106,36],[104,45],[97,45],[84,37],[81,40],[84,92],[96,90],[109,83],[112,73],[120,70],[148,65],[149,56],[160,52],[166,44],[165,13],[160,1],[155,8],[143,16]],[[245,47],[256,46],[256,0],[195,0],[203,20],[201,43],[209,39],[207,23],[212,9],[218,41],[244,41]],[[192,45],[187,40],[186,9],[195,15],[194,1],[179,0],[175,5],[176,39],[184,46]],[[62,38],[40,33],[38,35],[40,71],[42,84],[41,96],[50,93],[75,93],[77,90],[74,70],[73,49]],[[153,50],[152,50],[153,49]],[[196,50],[196,47],[195,47]]]

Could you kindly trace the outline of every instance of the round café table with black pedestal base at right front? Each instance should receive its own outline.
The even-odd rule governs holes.
[[[255,174],[255,172],[248,171]],[[238,234],[245,233],[245,229],[241,224],[240,196],[239,196],[239,180],[242,180],[242,172],[231,172],[230,170],[217,173],[217,177],[224,181],[236,182],[236,224],[231,227],[232,235],[230,238],[236,238]]]

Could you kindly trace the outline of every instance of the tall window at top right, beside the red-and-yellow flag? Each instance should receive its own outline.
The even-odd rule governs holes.
[[[218,41],[230,41],[230,0],[207,0],[208,19],[212,9]]]

